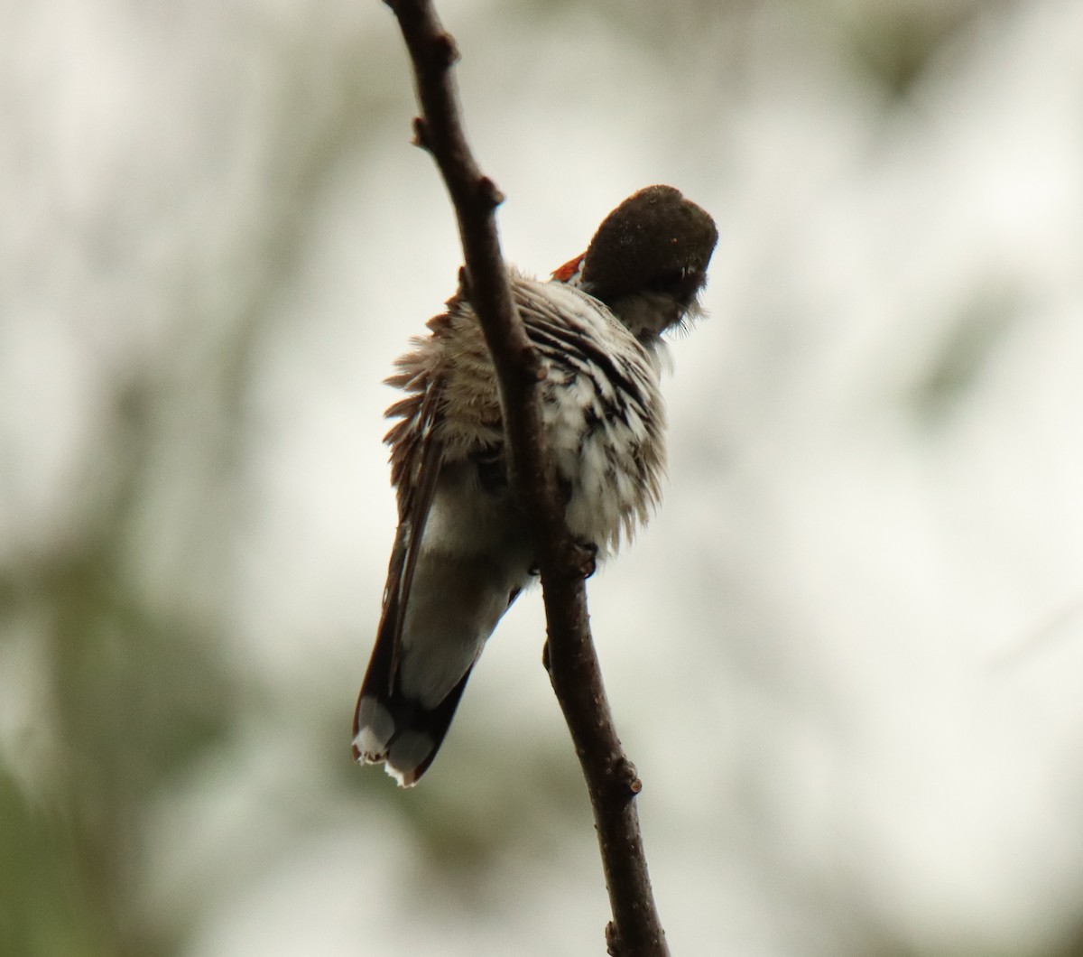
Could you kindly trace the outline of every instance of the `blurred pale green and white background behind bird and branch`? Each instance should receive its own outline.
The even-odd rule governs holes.
[[[1083,954],[1083,2],[440,9],[510,260],[720,228],[590,584],[674,953]],[[0,23],[0,953],[600,954],[537,595],[420,787],[350,761],[460,261],[392,15]]]

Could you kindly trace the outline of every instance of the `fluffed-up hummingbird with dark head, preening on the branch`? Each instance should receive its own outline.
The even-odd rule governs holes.
[[[661,500],[662,336],[701,314],[717,241],[707,212],[654,185],[606,216],[548,282],[509,269],[545,374],[542,423],[565,522],[597,560]],[[353,722],[354,759],[382,763],[402,787],[431,765],[485,643],[537,576],[469,288],[427,327],[387,379],[405,393],[386,413],[399,526]]]

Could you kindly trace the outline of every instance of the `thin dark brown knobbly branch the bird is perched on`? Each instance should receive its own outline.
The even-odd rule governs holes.
[[[635,797],[642,785],[625,756],[595,654],[584,587],[584,554],[564,522],[556,469],[542,427],[536,387],[544,371],[516,310],[500,255],[499,190],[482,174],[466,141],[452,66],[455,41],[430,0],[387,0],[414,68],[421,116],[415,142],[432,154],[447,185],[466,262],[468,297],[485,334],[500,389],[512,483],[542,571],[548,641],[546,667],[586,778],[598,829],[613,920],[609,953],[666,957],[647,871]]]

